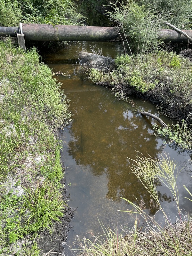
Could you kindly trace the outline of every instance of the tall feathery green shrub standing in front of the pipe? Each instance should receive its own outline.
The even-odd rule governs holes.
[[[159,19],[148,6],[140,6],[134,1],[127,4],[110,3],[113,11],[107,11],[109,20],[116,22],[120,37],[123,40],[125,54],[129,51],[143,55],[158,43],[157,30]]]

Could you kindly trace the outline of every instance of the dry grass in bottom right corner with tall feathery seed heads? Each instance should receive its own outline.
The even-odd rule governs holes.
[[[192,219],[187,214],[182,215],[179,208],[179,192],[177,189],[178,166],[168,155],[161,155],[160,159],[145,157],[137,152],[131,173],[134,173],[143,186],[150,193],[151,207],[155,207],[158,214],[161,212],[163,221],[156,221],[145,209],[143,200],[135,198],[135,203],[123,198],[132,206],[128,212],[134,218],[133,228],[123,228],[122,233],[117,229],[105,228],[104,235],[93,236],[93,239],[76,240],[81,249],[79,255],[84,256],[189,256],[192,255]],[[156,186],[164,184],[172,194],[177,208],[176,222],[172,223],[169,213],[165,212],[159,200]],[[184,186],[185,187],[185,186]],[[186,187],[185,187],[186,188]],[[187,189],[187,188],[186,188]],[[188,191],[188,189],[187,189]],[[189,191],[188,191],[189,192]],[[189,192],[189,197],[192,196]],[[191,197],[188,198],[191,200]],[[158,218],[157,218],[158,219]]]

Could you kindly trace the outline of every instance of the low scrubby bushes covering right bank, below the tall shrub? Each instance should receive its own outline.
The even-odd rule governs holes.
[[[91,69],[89,78],[111,88],[119,99],[129,95],[150,100],[159,111],[174,118],[178,125],[156,126],[159,134],[182,149],[192,146],[192,63],[174,52],[158,51],[137,56],[117,57],[115,69]],[[141,111],[141,110],[140,110]]]

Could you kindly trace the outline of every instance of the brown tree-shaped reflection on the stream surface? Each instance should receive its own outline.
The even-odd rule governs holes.
[[[135,150],[143,154],[147,151],[152,157],[161,153],[150,124],[140,114],[133,115],[129,103],[117,101],[106,89],[68,96],[76,102],[70,107],[74,116],[69,130],[75,140],[68,143],[68,153],[76,164],[89,165],[95,176],[106,174],[107,198],[119,202],[120,197],[132,201],[136,196],[149,202],[140,181],[129,174],[132,161],[127,157],[135,159]]]

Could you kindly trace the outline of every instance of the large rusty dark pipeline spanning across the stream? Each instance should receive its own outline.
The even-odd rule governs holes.
[[[115,27],[65,26],[22,23],[25,40],[31,41],[110,41],[118,36]],[[192,37],[192,30],[183,30]],[[17,27],[0,27],[0,36],[16,36]],[[158,39],[164,42],[188,43],[187,37],[172,29],[160,29]]]

